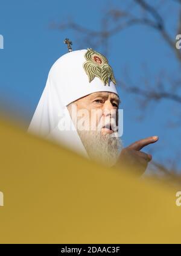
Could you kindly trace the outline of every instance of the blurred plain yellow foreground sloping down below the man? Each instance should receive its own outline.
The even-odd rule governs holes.
[[[0,243],[180,243],[176,191],[5,121],[0,137]]]

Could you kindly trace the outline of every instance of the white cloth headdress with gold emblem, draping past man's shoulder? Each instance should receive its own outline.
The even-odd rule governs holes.
[[[60,57],[49,71],[45,89],[28,132],[53,139],[87,156],[66,106],[94,92],[118,94],[113,73],[110,72],[112,69],[105,65],[105,62],[106,57],[92,49],[72,51]],[[106,68],[100,74],[103,65]],[[71,124],[72,129],[64,129],[62,117],[66,124]]]

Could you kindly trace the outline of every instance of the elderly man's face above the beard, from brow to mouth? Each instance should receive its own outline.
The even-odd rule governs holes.
[[[101,130],[101,135],[115,132],[114,127],[118,126],[118,95],[112,92],[95,92],[80,98],[74,104],[77,107],[77,120],[84,116],[84,130]]]

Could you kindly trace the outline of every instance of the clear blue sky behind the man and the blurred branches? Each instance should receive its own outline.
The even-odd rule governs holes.
[[[151,1],[156,3],[157,1]],[[0,0],[0,34],[4,36],[4,50],[0,50],[0,107],[11,115],[23,118],[28,126],[40,95],[46,83],[51,65],[67,52],[63,44],[69,37],[78,50],[77,33],[72,30],[60,31],[51,29],[52,22],[66,22],[73,19],[80,25],[92,30],[100,29],[100,19],[105,10],[124,6],[121,1],[43,1],[43,0]],[[177,12],[175,4],[173,11]],[[138,10],[135,9],[135,14]],[[162,8],[167,19],[165,22],[171,36],[175,38],[173,18],[167,15],[166,7]],[[173,16],[172,16],[173,17]],[[80,39],[81,40],[81,39]],[[83,48],[90,48],[82,42]],[[101,51],[101,48],[95,49]],[[174,76],[179,66],[173,51],[164,40],[151,28],[135,26],[115,34],[110,39],[109,62],[115,77],[121,81],[125,67],[129,76],[138,86],[143,86],[146,65],[149,82],[153,83],[158,72],[164,70]],[[138,84],[139,83],[139,84]],[[167,87],[167,82],[165,82]],[[151,103],[148,109],[140,109],[139,97],[128,94],[119,85],[119,96],[124,109],[124,145],[151,135],[158,135],[157,144],[145,148],[153,152],[153,159],[164,161],[175,159],[180,154],[180,127],[170,129],[168,121],[175,121],[173,113],[180,104],[162,100]],[[144,115],[142,120],[138,117]],[[179,161],[177,162],[178,165]]]

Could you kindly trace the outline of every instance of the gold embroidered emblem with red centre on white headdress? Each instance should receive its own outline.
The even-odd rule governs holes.
[[[104,85],[109,85],[109,80],[112,80],[116,85],[113,70],[108,64],[108,60],[105,56],[97,53],[97,51],[94,51],[91,48],[88,48],[84,57],[86,58],[86,62],[83,63],[83,68],[89,77],[89,83],[95,77],[98,77],[103,81]]]

